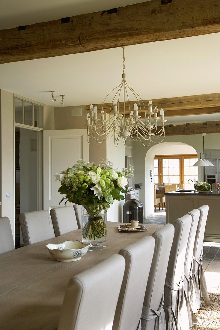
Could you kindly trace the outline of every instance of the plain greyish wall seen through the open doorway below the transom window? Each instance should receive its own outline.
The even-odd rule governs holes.
[[[20,213],[37,211],[37,132],[20,128]]]

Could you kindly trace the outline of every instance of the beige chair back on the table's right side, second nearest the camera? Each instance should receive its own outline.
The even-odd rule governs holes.
[[[145,236],[119,251],[126,266],[112,330],[141,329],[141,311],[154,245],[154,238]]]

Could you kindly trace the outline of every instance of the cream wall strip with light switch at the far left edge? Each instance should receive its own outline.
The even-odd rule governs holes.
[[[14,230],[14,94],[3,89],[1,92],[1,216],[10,219]],[[6,192],[10,198],[6,199]]]

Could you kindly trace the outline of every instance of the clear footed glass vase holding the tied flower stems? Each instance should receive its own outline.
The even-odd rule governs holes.
[[[103,250],[99,243],[107,241],[107,212],[102,210],[97,216],[82,210],[82,243],[89,243],[89,251]]]

